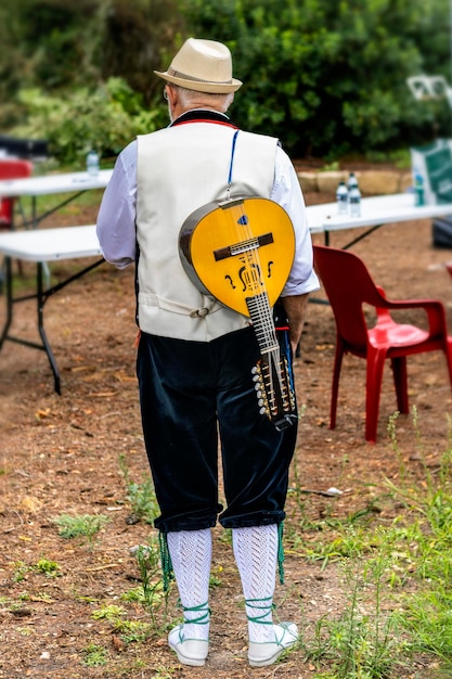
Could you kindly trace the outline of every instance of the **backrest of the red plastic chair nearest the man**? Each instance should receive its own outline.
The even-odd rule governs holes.
[[[348,251],[314,245],[314,266],[332,305],[338,334],[350,347],[365,353],[363,304],[378,307],[383,297],[364,262]]]

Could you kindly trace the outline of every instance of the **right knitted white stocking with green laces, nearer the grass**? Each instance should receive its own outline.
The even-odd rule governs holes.
[[[274,642],[272,606],[277,562],[277,525],[233,528],[232,546],[245,594],[249,641]]]

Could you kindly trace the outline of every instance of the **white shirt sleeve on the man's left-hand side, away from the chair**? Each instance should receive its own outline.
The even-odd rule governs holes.
[[[102,197],[96,232],[102,254],[118,269],[135,259],[137,141],[118,155]]]

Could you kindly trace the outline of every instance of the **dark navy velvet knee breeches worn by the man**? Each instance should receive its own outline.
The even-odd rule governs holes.
[[[171,530],[280,523],[296,425],[259,413],[251,328],[209,343],[142,333],[137,372],[146,452],[160,516]],[[219,446],[220,444],[220,446]],[[219,499],[219,450],[225,509]]]

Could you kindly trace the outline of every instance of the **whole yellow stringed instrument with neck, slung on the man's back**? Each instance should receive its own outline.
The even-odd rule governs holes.
[[[273,201],[233,197],[190,215],[179,234],[182,265],[192,282],[251,319],[261,357],[253,368],[259,412],[277,431],[296,424],[296,399],[272,307],[290,273],[295,233]]]

